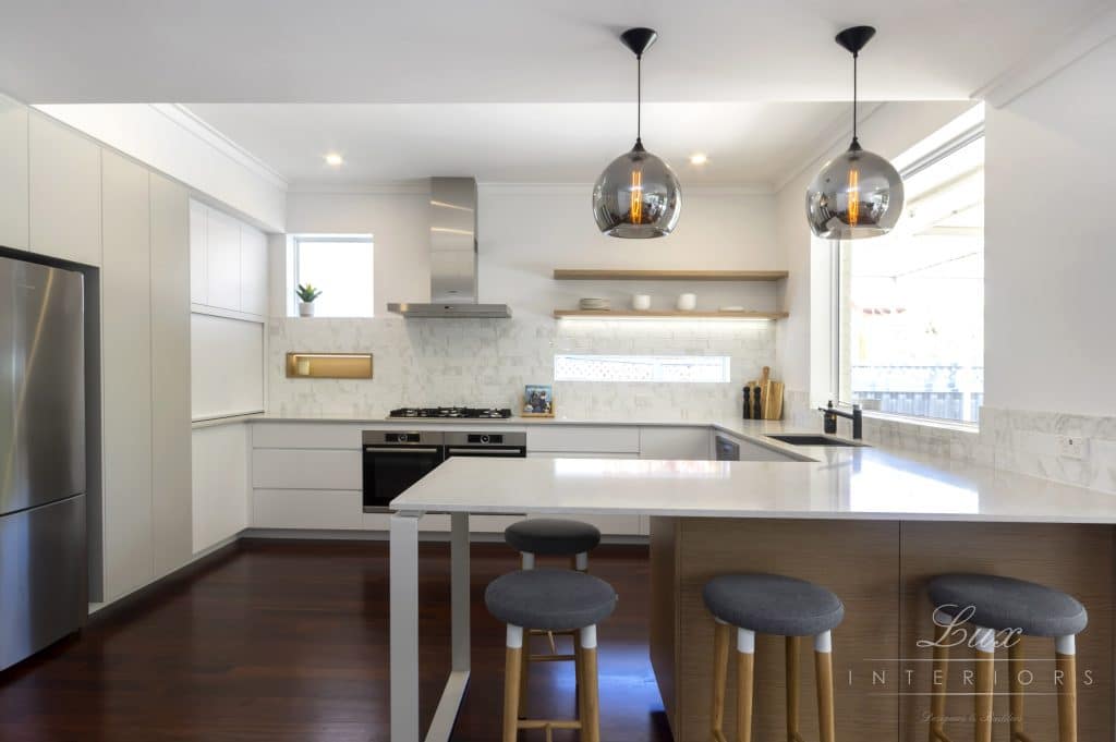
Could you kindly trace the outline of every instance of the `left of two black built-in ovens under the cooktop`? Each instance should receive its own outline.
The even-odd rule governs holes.
[[[364,431],[364,512],[386,512],[408,486],[445,460],[435,431]]]

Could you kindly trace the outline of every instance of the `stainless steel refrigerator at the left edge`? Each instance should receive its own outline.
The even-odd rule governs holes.
[[[0,669],[88,613],[84,295],[0,258]]]

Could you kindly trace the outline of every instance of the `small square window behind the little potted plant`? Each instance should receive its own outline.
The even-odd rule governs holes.
[[[375,315],[371,235],[296,237],[291,264],[291,316],[298,314],[295,290],[305,283],[321,291],[314,302],[316,317]]]

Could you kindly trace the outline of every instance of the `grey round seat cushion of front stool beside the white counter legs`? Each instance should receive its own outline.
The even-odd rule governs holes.
[[[568,632],[612,615],[616,590],[603,579],[571,569],[521,569],[492,580],[484,605],[504,624]]]

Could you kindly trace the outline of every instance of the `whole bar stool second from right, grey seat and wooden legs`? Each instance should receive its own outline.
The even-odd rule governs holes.
[[[802,742],[798,733],[798,649],[800,637],[814,637],[814,665],[818,686],[818,725],[821,742],[834,742],[833,635],[845,618],[840,598],[819,585],[780,575],[722,575],[705,584],[705,607],[713,614],[714,742],[724,736],[724,686],[729,673],[729,627],[737,629],[737,742],[752,739],[752,697],[756,634],[786,637],[787,740]]]

